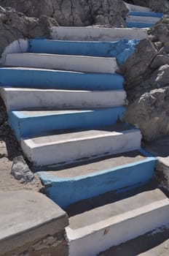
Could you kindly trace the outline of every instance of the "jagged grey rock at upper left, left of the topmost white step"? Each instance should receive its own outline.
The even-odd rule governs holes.
[[[50,28],[58,23],[47,16],[28,18],[12,8],[0,7],[0,56],[11,42],[20,38],[48,37]]]

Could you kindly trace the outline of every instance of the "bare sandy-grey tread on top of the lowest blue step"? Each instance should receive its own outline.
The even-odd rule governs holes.
[[[95,156],[96,157],[96,156]],[[53,167],[45,167],[44,170],[39,172],[40,176],[47,171],[47,177],[52,178],[74,178],[78,176],[87,176],[91,173],[97,173],[104,170],[109,170],[110,168],[117,167],[120,165],[128,165],[133,162],[138,162],[146,159],[144,154],[140,151],[129,151],[122,154],[114,154],[111,156],[99,157],[92,160],[85,160],[74,163],[71,165],[54,165]]]

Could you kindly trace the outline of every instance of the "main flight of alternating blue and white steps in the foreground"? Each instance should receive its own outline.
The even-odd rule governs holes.
[[[146,33],[55,27],[52,37],[7,54],[1,97],[47,196],[68,212],[69,255],[92,256],[168,223],[168,198],[146,187],[155,159],[122,121],[116,73]]]

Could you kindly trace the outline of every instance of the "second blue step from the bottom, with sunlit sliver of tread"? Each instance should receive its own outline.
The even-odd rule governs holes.
[[[60,129],[93,129],[113,125],[122,118],[124,112],[123,107],[18,110],[9,113],[9,124],[19,140]]]

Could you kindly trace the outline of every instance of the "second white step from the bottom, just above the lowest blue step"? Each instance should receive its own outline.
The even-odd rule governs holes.
[[[118,124],[104,129],[55,132],[21,140],[20,144],[34,165],[54,165],[138,149],[141,132],[127,124]]]

